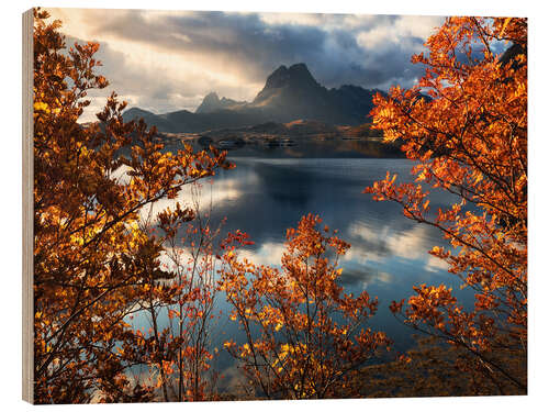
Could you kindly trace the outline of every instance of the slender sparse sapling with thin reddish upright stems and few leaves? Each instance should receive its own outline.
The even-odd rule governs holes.
[[[209,185],[210,186],[210,185]],[[214,314],[219,288],[221,231],[225,220],[214,224],[213,204],[201,204],[203,186],[194,183],[191,190],[194,220],[182,226],[169,213],[161,213],[160,229],[165,233],[169,269],[176,274],[179,293],[176,305],[168,311],[169,329],[182,341],[175,359],[176,400],[203,401],[215,399],[217,371],[211,360],[219,349],[212,346],[212,330],[220,318]],[[169,211],[168,211],[169,212]],[[175,237],[177,235],[181,237]]]

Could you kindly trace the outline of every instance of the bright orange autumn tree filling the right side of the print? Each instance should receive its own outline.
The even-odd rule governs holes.
[[[496,45],[507,44],[503,55]],[[464,308],[451,288],[417,286],[391,309],[403,322],[459,348],[456,366],[492,393],[525,393],[527,352],[527,23],[449,18],[413,57],[417,86],[376,96],[376,127],[416,162],[413,183],[395,175],[366,189],[440,230],[450,248],[429,253],[474,292]],[[430,99],[419,94],[426,92]],[[430,211],[429,191],[457,197]]]

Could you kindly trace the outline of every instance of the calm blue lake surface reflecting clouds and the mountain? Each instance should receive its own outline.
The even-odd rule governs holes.
[[[366,289],[371,297],[378,297],[379,311],[370,326],[384,331],[394,341],[395,352],[402,353],[414,344],[414,331],[400,324],[389,305],[410,297],[413,286],[444,282],[453,286],[466,304],[471,302],[469,292],[460,291],[458,279],[447,272],[446,264],[427,253],[435,245],[447,245],[436,229],[404,218],[395,203],[376,202],[370,194],[362,194],[367,186],[384,178],[386,170],[399,174],[402,181],[411,181],[410,160],[249,154],[229,158],[236,168],[222,170],[212,183],[202,187],[202,202],[208,207],[212,200],[213,224],[226,218],[224,233],[239,229],[255,242],[240,256],[255,264],[280,266],[285,230],[295,227],[304,214],[318,214],[324,224],[337,229],[338,236],[351,244],[340,260],[345,291],[360,293]],[[186,196],[182,193],[179,200],[184,201]],[[434,192],[430,199],[435,211],[453,202],[444,192]],[[217,297],[217,305],[228,311],[222,296]],[[166,316],[164,321],[167,324]],[[236,322],[229,321],[226,313],[214,327],[214,346],[221,347],[228,338],[243,342]],[[223,349],[213,366],[225,372],[234,370]]]

